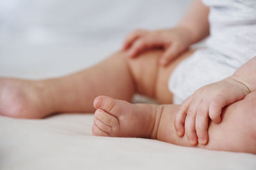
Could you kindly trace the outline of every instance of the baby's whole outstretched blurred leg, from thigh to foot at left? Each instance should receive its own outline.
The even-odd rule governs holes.
[[[48,80],[0,78],[0,115],[43,118],[56,112],[92,112],[93,99],[100,95],[131,101],[134,92],[171,103],[168,77],[186,52],[168,67],[159,67],[161,50],[128,59],[118,52],[78,73]]]

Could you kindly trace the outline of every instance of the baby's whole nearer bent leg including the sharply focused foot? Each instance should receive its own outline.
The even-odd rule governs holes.
[[[131,104],[100,96],[95,99],[92,133],[96,136],[151,138],[181,146],[188,139],[174,128],[178,105]],[[194,147],[256,153],[256,92],[228,106],[221,124],[210,123],[209,143]]]

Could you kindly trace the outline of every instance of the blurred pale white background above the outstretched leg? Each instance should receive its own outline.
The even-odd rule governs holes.
[[[190,0],[1,0],[0,76],[47,78],[91,66],[134,29],[175,25]]]

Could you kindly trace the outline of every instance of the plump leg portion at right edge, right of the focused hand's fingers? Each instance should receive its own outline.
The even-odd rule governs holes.
[[[221,123],[209,125],[209,143],[200,147],[256,153],[256,92],[225,108]]]

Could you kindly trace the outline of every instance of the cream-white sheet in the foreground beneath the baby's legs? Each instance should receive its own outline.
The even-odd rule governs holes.
[[[252,169],[256,156],[91,134],[93,115],[0,117],[0,169]]]

